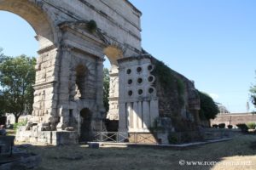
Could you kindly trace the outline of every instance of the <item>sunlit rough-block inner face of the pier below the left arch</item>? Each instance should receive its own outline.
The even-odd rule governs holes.
[[[50,122],[51,116],[58,116],[56,112],[57,98],[55,77],[57,49],[46,51],[37,59],[36,85],[34,86],[34,104],[32,122]]]

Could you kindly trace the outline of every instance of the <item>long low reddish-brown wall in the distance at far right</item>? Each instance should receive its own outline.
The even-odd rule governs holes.
[[[256,114],[241,113],[241,114],[225,114],[218,115],[215,119],[211,120],[212,124],[225,123],[226,125],[233,125],[239,123],[256,122]]]

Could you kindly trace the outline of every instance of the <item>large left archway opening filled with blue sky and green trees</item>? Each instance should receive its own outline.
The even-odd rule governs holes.
[[[8,65],[12,81],[9,84],[2,84],[0,86],[0,91],[5,92],[5,94],[13,95],[12,99],[3,98],[5,102],[8,101],[8,103],[11,103],[11,101],[20,101],[15,102],[15,105],[5,105],[4,107],[11,111],[9,111],[10,113],[4,112],[3,114],[6,114],[9,124],[15,124],[15,122],[18,121],[27,120],[31,117],[28,115],[32,114],[32,86],[35,81],[34,57],[37,55],[38,42],[34,38],[36,33],[32,26],[19,15],[10,13],[9,11],[0,10],[0,23],[2,23],[0,32],[0,53],[10,57],[10,61],[13,63],[12,65]],[[7,60],[3,60],[4,63],[8,63],[6,62]],[[15,62],[17,60],[22,60],[24,62]],[[23,65],[26,65],[26,70],[24,70]],[[23,68],[23,71],[18,71],[20,68]],[[19,74],[16,74],[15,72],[18,72]],[[6,74],[6,72],[3,74]],[[12,88],[17,83],[20,84],[19,87],[15,86],[15,88]],[[15,94],[11,93],[12,91],[14,91]],[[1,93],[1,96],[2,95],[3,94]],[[19,111],[16,112],[15,110],[18,108]]]

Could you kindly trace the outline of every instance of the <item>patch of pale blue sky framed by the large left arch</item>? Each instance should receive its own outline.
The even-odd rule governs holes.
[[[35,38],[37,34],[26,20],[17,14],[0,10],[0,22],[4,23],[0,31],[0,48],[3,48],[3,54],[12,57],[21,54],[33,57],[38,55],[38,41]]]

